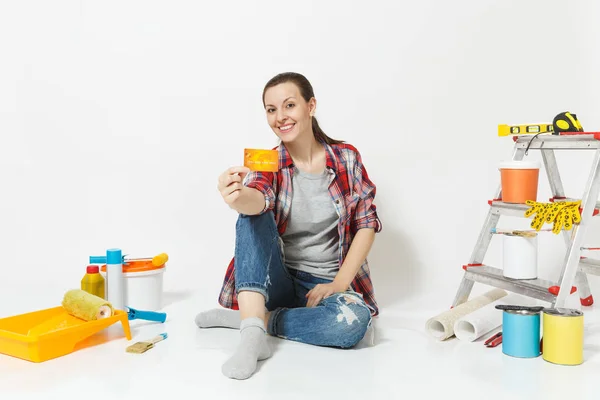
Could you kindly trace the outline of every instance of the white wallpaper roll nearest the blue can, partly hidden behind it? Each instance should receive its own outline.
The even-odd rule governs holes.
[[[454,334],[458,339],[467,342],[477,340],[486,333],[502,326],[502,310],[496,310],[497,304],[529,305],[525,303],[526,301],[522,296],[511,293],[457,319],[454,323]]]

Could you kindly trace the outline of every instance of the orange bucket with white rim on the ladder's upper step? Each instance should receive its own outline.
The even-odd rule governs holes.
[[[500,163],[502,201],[524,204],[527,200],[537,201],[539,161],[505,161]]]

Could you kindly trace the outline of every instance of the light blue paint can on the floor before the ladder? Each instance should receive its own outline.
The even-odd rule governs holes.
[[[540,313],[530,310],[504,310],[502,352],[511,357],[540,355]]]

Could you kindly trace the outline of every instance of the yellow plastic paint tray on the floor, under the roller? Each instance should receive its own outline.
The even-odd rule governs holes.
[[[62,306],[2,318],[0,354],[44,362],[72,353],[84,339],[119,321],[127,340],[131,340],[128,315],[121,310],[93,321],[74,317]]]

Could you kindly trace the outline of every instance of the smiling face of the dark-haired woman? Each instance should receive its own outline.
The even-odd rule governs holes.
[[[291,82],[273,86],[265,93],[267,121],[284,143],[312,135],[311,115],[315,107],[315,99],[304,101],[298,87]]]

